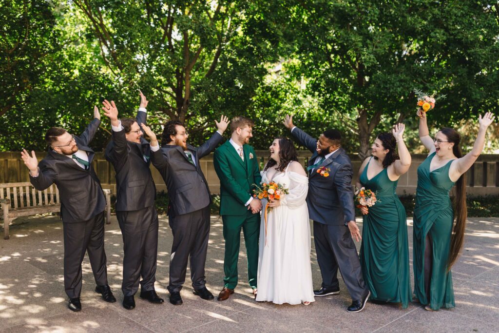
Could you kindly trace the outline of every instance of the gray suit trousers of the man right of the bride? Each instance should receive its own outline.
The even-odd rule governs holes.
[[[359,255],[348,227],[313,221],[313,237],[322,275],[322,287],[339,289],[339,268],[352,300],[363,299],[367,289],[362,277]]]

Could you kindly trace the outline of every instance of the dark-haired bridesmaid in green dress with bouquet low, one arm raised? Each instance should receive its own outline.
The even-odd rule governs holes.
[[[359,170],[357,187],[377,192],[372,207],[361,207],[363,216],[360,264],[364,281],[377,304],[411,301],[409,245],[404,206],[395,193],[401,175],[409,170],[411,155],[404,143],[404,124],[394,126],[393,134],[379,134]],[[396,147],[399,156],[396,153]]]

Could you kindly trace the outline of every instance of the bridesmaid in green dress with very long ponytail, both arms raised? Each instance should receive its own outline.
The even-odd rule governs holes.
[[[454,308],[451,267],[463,247],[466,229],[465,172],[484,149],[487,128],[494,116],[479,116],[480,124],[473,149],[462,155],[460,135],[442,128],[435,138],[429,135],[426,112],[418,111],[419,137],[430,151],[418,168],[414,209],[414,293],[425,310]],[[454,209],[449,191],[456,184]]]

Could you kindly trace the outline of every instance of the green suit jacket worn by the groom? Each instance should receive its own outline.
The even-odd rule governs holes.
[[[230,141],[226,141],[214,155],[214,166],[220,178],[220,215],[245,215],[245,204],[253,194],[253,184],[261,182],[258,159],[253,147],[243,145],[243,161]]]

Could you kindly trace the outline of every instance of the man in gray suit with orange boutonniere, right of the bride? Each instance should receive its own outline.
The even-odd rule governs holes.
[[[361,239],[355,223],[352,188],[352,163],[341,148],[341,134],[329,129],[318,140],[293,125],[292,116],[286,116],[284,126],[291,135],[312,152],[308,161],[307,206],[313,220],[313,236],[317,262],[322,275],[322,286],[315,296],[340,293],[338,268],[352,298],[348,312],[364,309],[371,293],[362,277],[359,256],[352,237]],[[328,168],[327,177],[317,173],[318,168]]]

